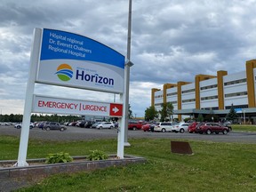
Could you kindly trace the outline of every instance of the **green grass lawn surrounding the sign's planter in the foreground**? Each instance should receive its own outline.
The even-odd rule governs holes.
[[[18,191],[255,191],[256,145],[189,140],[192,156],[172,154],[171,140],[129,140],[124,154],[147,158],[144,164],[129,164],[93,172],[51,176]],[[30,140],[28,158],[68,152],[86,156],[99,149],[116,153],[116,140],[50,142]],[[1,159],[15,159],[19,139],[0,136]]]

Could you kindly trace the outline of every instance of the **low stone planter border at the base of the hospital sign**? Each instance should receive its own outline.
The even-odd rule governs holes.
[[[145,163],[147,160],[140,156],[124,156],[118,159],[109,156],[107,160],[88,161],[86,156],[73,156],[74,161],[62,164],[44,164],[45,159],[28,159],[29,166],[13,167],[16,161],[0,161],[0,191],[11,191],[33,185],[38,180],[58,173],[90,172],[109,166],[125,166],[127,164]]]

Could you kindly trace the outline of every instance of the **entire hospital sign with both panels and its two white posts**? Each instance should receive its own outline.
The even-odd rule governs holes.
[[[123,103],[99,103],[34,95],[35,84],[59,85],[97,92],[124,93],[124,55],[86,36],[36,28],[16,166],[26,166],[31,113],[122,116]],[[124,123],[123,123],[124,125]],[[121,133],[120,133],[121,132]],[[119,143],[120,142],[120,143]],[[117,156],[124,158],[124,127],[118,132]]]

